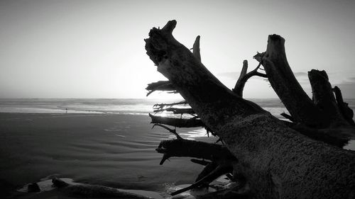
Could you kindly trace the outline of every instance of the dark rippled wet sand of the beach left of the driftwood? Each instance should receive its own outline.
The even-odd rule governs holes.
[[[148,115],[0,113],[0,197],[48,176],[159,193],[195,181],[202,166],[189,158],[159,165],[155,148],[172,136],[149,123]],[[202,130],[190,134],[212,142]]]

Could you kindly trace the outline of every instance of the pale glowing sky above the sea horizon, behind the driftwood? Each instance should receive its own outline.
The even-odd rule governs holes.
[[[143,39],[173,19],[183,45],[201,35],[202,63],[229,88],[275,33],[307,93],[307,72],[324,69],[344,98],[355,98],[355,1],[345,0],[1,0],[0,98],[146,98],[146,84],[165,77]],[[261,77],[249,79],[244,97],[277,98]]]

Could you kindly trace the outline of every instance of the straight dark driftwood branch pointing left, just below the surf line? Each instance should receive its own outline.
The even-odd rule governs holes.
[[[174,127],[204,127],[202,120],[199,119],[179,119],[179,118],[165,118],[160,116],[155,116],[149,114],[151,117],[152,124],[163,124],[163,125],[170,125]]]

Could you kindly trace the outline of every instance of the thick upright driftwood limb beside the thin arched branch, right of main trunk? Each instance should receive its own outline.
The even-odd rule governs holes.
[[[303,91],[293,74],[285,54],[285,40],[269,35],[266,52],[254,56],[263,67],[275,93],[297,123],[310,127],[327,127],[330,121]]]

